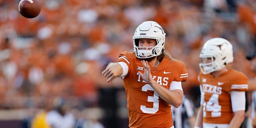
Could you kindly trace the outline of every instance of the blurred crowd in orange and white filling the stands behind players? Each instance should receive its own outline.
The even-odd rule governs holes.
[[[195,106],[198,56],[212,37],[229,40],[232,66],[254,77],[245,57],[256,44],[254,0],[40,0],[41,12],[32,19],[19,14],[19,1],[0,0],[1,110],[51,110],[56,97],[76,119],[87,108],[102,108],[105,116],[125,108],[122,80],[107,83],[101,72],[133,49],[134,31],[146,20],[164,28],[165,50],[186,64],[182,87]],[[102,117],[95,113],[86,115]]]

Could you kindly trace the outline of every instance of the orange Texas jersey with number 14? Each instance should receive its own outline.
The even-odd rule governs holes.
[[[248,78],[242,72],[230,69],[214,77],[211,74],[198,75],[203,105],[203,122],[209,124],[229,124],[234,114],[230,98],[231,91],[246,91]],[[245,99],[244,99],[245,100]]]

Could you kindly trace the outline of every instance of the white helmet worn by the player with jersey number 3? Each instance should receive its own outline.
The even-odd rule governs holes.
[[[163,28],[154,21],[145,21],[140,24],[135,32],[133,39],[134,53],[138,58],[150,58],[159,56],[164,51],[165,35]],[[154,47],[139,47],[140,38],[156,39]],[[142,48],[144,48],[142,50]],[[146,49],[145,49],[146,48]]]

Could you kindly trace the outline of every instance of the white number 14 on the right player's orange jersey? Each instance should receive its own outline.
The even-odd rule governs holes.
[[[204,92],[203,92],[204,96]],[[221,106],[219,105],[219,95],[212,94],[211,98],[208,102],[204,101],[203,104],[203,116],[206,116],[206,111],[211,112],[212,117],[220,117],[221,116]]]

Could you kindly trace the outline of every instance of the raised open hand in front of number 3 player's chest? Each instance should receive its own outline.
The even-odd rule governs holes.
[[[142,77],[142,79],[147,82],[148,84],[150,84],[150,82],[153,80],[152,79],[152,75],[150,72],[150,67],[148,65],[148,61],[142,60],[141,63],[143,64],[144,67],[144,74],[142,74],[141,72],[138,72],[138,74],[140,74],[140,76]]]

